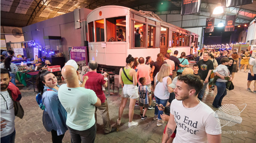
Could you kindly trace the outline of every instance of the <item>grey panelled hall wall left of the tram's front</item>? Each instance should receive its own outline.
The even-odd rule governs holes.
[[[44,36],[61,36],[62,50],[65,60],[68,60],[68,47],[83,46],[86,40],[86,23],[87,15],[92,11],[87,8],[81,8],[80,19],[81,28],[75,29],[74,12],[53,17],[26,27],[23,27],[25,41],[35,40],[39,45],[45,47]],[[36,31],[38,29],[39,31]],[[33,49],[30,49],[33,51]],[[45,56],[40,55],[40,56]]]

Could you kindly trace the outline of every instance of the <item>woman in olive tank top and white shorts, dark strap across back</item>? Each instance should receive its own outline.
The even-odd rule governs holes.
[[[129,104],[129,123],[128,126],[138,126],[137,122],[132,121],[134,115],[134,105],[136,99],[139,97],[137,85],[137,74],[131,67],[134,64],[134,57],[128,55],[126,58],[126,66],[121,68],[119,71],[119,82],[122,85],[122,101],[119,107],[119,114],[117,119],[117,125],[120,125],[122,114],[127,103],[128,98],[130,98]]]

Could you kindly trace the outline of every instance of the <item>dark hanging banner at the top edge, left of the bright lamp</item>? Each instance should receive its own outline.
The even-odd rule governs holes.
[[[181,15],[200,13],[201,0],[182,0]]]

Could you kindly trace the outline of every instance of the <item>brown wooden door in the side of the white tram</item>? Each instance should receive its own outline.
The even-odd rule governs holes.
[[[168,31],[169,29],[166,27],[161,27],[161,35],[160,35],[160,53],[165,55],[168,50]]]

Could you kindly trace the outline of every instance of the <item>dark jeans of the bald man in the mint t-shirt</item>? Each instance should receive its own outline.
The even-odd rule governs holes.
[[[87,130],[78,131],[67,126],[70,136],[71,143],[94,143],[96,137],[96,123]]]

